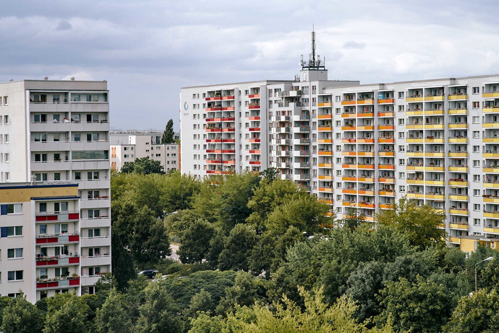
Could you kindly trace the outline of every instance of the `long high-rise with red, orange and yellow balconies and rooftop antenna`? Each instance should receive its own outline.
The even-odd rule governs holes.
[[[407,196],[445,212],[451,246],[499,245],[499,75],[360,84],[327,80],[314,49],[301,64],[294,80],[182,88],[182,171],[275,167],[371,222]]]

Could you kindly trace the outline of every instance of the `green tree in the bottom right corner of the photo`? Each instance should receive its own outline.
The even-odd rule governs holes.
[[[452,313],[445,333],[499,332],[499,295],[482,289],[471,296],[462,297]]]

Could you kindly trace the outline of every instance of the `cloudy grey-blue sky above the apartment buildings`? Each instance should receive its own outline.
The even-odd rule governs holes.
[[[111,125],[176,128],[182,86],[291,79],[317,52],[361,83],[499,72],[497,1],[1,1],[0,81],[107,80]]]

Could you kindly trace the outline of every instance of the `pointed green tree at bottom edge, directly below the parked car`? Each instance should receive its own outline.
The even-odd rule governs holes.
[[[177,313],[179,309],[164,286],[163,279],[154,279],[145,289],[145,303],[139,307],[139,318],[135,325],[137,333],[180,333],[183,329]]]

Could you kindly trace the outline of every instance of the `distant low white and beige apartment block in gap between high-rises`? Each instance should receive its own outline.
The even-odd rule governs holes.
[[[161,144],[163,131],[112,131],[111,132],[111,168],[121,170],[126,163],[137,158],[149,156],[160,161],[165,172],[180,170],[180,144]],[[180,133],[174,134],[174,140],[180,140]]]

